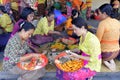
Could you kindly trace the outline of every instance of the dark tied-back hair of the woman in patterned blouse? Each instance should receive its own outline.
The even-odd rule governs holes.
[[[28,31],[30,29],[34,29],[35,27],[32,23],[28,22],[28,21],[22,21],[19,23],[20,29],[18,32],[20,32],[22,29],[24,29],[25,31]]]

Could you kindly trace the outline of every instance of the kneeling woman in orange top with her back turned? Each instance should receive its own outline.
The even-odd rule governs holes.
[[[114,58],[119,54],[120,22],[111,18],[113,8],[110,4],[103,4],[98,9],[101,22],[96,36],[101,43],[103,63],[112,71],[116,70]]]

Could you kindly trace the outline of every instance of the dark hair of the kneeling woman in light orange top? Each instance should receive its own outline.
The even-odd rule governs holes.
[[[110,4],[103,4],[102,6],[99,7],[99,10],[102,12],[102,13],[106,13],[108,16],[112,17],[113,15],[113,8]]]

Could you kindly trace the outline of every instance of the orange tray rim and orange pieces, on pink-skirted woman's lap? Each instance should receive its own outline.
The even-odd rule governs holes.
[[[72,60],[72,61],[67,61],[65,63],[57,63],[56,60],[58,60],[60,57],[66,56],[67,54],[65,52],[60,53],[58,56],[55,58],[55,65],[57,68],[64,72],[74,72],[79,70],[84,66],[84,61],[79,59],[79,60]]]

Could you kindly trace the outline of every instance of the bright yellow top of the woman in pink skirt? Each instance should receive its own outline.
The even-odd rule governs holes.
[[[82,36],[81,36],[79,49],[90,56],[90,61],[85,67],[100,72],[101,59],[99,58],[101,55],[101,48],[98,38],[94,34],[88,32],[85,36],[84,42],[82,42]]]

